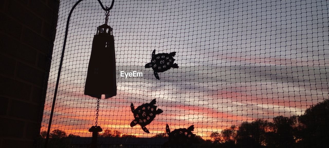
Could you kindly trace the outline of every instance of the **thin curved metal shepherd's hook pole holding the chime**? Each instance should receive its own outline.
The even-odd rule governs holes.
[[[64,52],[65,52],[65,45],[66,45],[66,38],[67,38],[67,31],[68,31],[68,25],[70,23],[70,18],[71,18],[71,14],[74,10],[74,8],[83,0],[79,0],[77,1],[70,13],[68,14],[68,18],[67,18],[67,21],[66,21],[66,29],[65,29],[65,36],[64,36],[64,41],[63,41],[63,49],[62,49],[62,56],[61,56],[61,61],[60,61],[60,65],[59,65],[59,68],[58,68],[58,75],[57,75],[57,81],[56,81],[56,86],[55,86],[55,92],[54,92],[54,97],[53,97],[53,103],[52,103],[52,106],[51,106],[51,112],[50,112],[50,117],[49,117],[49,124],[48,124],[48,130],[47,130],[47,136],[46,136],[46,141],[45,141],[45,148],[47,148],[48,146],[48,140],[49,140],[49,134],[50,134],[50,128],[51,128],[51,122],[52,122],[52,119],[53,119],[53,114],[54,114],[54,106],[55,106],[55,101],[56,101],[56,96],[57,96],[57,91],[58,91],[58,84],[59,84],[59,81],[60,81],[60,77],[61,77],[61,70],[62,70],[62,64],[63,64],[63,59],[64,59]],[[114,0],[112,0],[112,4],[111,4],[111,7],[106,9],[104,8],[102,2],[100,0],[97,0],[99,2],[99,4],[101,5],[102,9],[104,11],[110,11],[112,8],[113,8],[113,4],[114,4]]]

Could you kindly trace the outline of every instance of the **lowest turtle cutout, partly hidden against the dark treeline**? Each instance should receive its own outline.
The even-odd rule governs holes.
[[[198,139],[195,137],[195,134],[192,133],[194,130],[194,125],[191,125],[187,129],[180,128],[170,132],[167,124],[165,130],[168,135],[168,142],[170,143],[171,148],[190,148],[192,143],[198,143]]]

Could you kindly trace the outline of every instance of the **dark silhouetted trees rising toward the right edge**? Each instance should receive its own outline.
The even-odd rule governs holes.
[[[300,116],[277,116],[269,122],[257,119],[212,132],[206,147],[311,148],[329,147],[329,101],[311,106]]]

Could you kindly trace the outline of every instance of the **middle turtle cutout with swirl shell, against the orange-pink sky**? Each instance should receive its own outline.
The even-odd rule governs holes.
[[[145,126],[153,121],[155,115],[163,112],[161,109],[156,110],[157,106],[155,106],[155,103],[156,100],[153,99],[151,103],[142,104],[136,109],[134,107],[134,104],[131,103],[130,108],[131,111],[134,113],[135,119],[130,123],[130,127],[134,127],[135,125],[139,124],[144,132],[150,133]]]

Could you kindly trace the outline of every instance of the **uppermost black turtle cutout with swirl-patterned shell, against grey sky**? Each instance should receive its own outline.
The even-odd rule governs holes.
[[[174,63],[175,59],[173,58],[176,55],[176,52],[171,53],[158,53],[155,54],[155,49],[152,52],[151,62],[145,64],[145,68],[153,69],[154,76],[160,80],[158,72],[164,72],[170,68],[178,68],[177,63]]]

